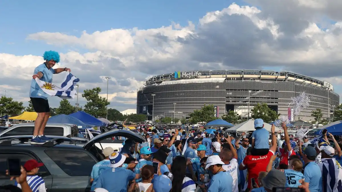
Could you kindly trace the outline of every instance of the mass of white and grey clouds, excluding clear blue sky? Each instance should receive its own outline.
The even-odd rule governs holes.
[[[27,39],[67,46],[71,51],[61,53],[60,66],[71,68],[81,79],[80,91],[101,86],[105,96],[104,77],[111,77],[108,100],[119,110],[135,108],[136,89],[147,77],[174,70],[278,67],[332,84],[341,82],[340,1],[253,0],[250,4],[233,3],[209,12],[193,21],[198,25],[83,31],[79,36],[38,31]],[[42,62],[40,56],[1,53],[1,81],[8,81],[0,88],[10,90],[15,85],[13,97],[28,99],[32,71]]]

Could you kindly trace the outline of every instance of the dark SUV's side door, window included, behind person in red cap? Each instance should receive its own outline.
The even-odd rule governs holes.
[[[6,169],[8,169],[7,165],[7,159],[20,159],[21,164],[24,165],[26,161],[35,159],[38,162],[42,162],[35,154],[30,153],[28,151],[24,150],[16,150],[16,149],[1,149],[0,150],[0,186],[7,185],[7,184],[13,184],[14,180],[10,180],[8,176],[5,175]],[[38,176],[41,176],[45,182],[45,188],[47,192],[51,192],[51,186],[52,186],[52,176],[49,173],[48,169],[43,165],[42,167],[39,167],[39,172],[37,174]]]

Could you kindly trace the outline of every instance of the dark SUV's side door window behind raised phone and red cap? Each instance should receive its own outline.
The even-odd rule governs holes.
[[[0,178],[8,178],[6,176],[6,169],[8,169],[7,159],[20,159],[21,164],[24,166],[25,162],[30,159],[36,159],[28,154],[23,153],[0,153]],[[36,159],[38,162],[41,162],[39,159]],[[50,173],[48,172],[45,166],[39,167],[38,174],[41,177],[49,176]]]

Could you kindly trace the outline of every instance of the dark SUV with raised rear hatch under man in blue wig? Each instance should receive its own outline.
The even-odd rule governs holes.
[[[90,140],[54,136],[51,141],[34,146],[29,143],[32,136],[0,138],[0,185],[14,184],[5,175],[8,158],[21,159],[22,164],[35,159],[44,164],[38,175],[44,179],[48,192],[88,192],[92,167],[103,160],[102,150],[94,144],[115,136],[146,141],[140,134],[124,129],[111,130]]]

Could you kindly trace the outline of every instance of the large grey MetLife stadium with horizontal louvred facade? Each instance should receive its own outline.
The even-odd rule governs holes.
[[[305,92],[310,105],[298,116],[291,114],[291,98]],[[217,117],[234,110],[248,118],[258,103],[292,121],[312,121],[311,112],[320,108],[323,118],[330,118],[340,96],[333,86],[308,76],[292,72],[269,70],[206,70],[175,71],[148,79],[137,90],[137,114],[148,120],[170,116],[189,118],[189,113],[204,105],[214,105]]]

